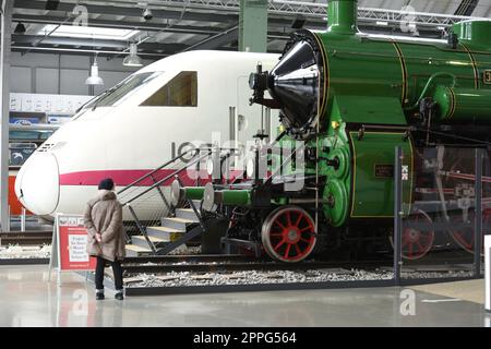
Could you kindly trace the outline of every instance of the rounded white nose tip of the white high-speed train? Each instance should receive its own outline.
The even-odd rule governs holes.
[[[35,153],[22,166],[15,179],[20,202],[36,215],[49,215],[58,206],[59,169],[55,155]]]

